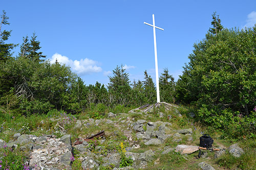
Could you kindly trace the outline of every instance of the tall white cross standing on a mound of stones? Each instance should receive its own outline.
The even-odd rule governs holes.
[[[157,84],[157,103],[160,102],[160,93],[159,93],[159,78],[158,78],[158,64],[157,64],[157,40],[156,40],[156,28],[163,30],[162,28],[155,26],[155,15],[153,14],[153,25],[144,22],[146,25],[153,27],[154,32],[154,48],[155,48],[155,64],[156,64],[156,84]]]

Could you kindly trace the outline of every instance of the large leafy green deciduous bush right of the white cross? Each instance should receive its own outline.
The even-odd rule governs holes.
[[[256,102],[255,33],[255,27],[222,29],[218,36],[207,33],[194,45],[176,96],[180,102],[195,101],[201,122],[220,130],[229,126],[239,130],[239,117],[250,115]]]

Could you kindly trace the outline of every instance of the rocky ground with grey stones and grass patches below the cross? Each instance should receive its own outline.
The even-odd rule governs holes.
[[[161,164],[159,157],[166,155],[167,158],[169,154],[179,154],[184,162],[190,163],[187,167],[219,169],[217,165],[209,163],[212,162],[211,159],[226,152],[236,157],[243,153],[238,144],[227,148],[219,144],[216,147],[222,151],[214,152],[214,156],[209,156],[208,152],[200,159],[195,156],[198,152],[193,157],[181,155],[177,145],[197,145],[201,135],[193,124],[191,128],[183,128],[175,122],[178,118],[182,119],[182,116],[177,111],[158,112],[156,115],[139,111],[129,114],[110,112],[105,118],[75,119],[73,124],[70,123],[73,131],[65,129],[63,118],[54,117],[42,120],[40,124],[51,122],[61,137],[54,134],[36,136],[15,133],[8,142],[0,139],[0,147],[27,152],[29,169],[158,169],[158,164]],[[104,130],[104,136],[84,141],[84,138],[101,130]],[[82,133],[84,131],[91,133],[86,135]],[[75,145],[77,137],[81,144]],[[120,167],[120,164],[129,159],[132,159],[129,166]]]

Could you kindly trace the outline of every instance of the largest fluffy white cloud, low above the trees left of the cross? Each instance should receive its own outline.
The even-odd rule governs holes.
[[[97,66],[97,61],[91,59],[81,59],[80,61],[73,61],[66,56],[62,56],[58,53],[55,53],[50,59],[51,63],[58,61],[60,64],[66,64],[70,66],[71,69],[79,75],[87,75],[92,72],[101,72],[102,68]]]

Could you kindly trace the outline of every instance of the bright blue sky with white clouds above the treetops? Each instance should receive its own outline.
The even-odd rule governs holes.
[[[153,28],[155,14],[159,75],[164,68],[177,81],[193,44],[211,27],[217,11],[224,28],[252,27],[256,23],[256,1],[2,1],[12,30],[9,42],[36,33],[41,52],[70,65],[84,83],[108,84],[108,76],[123,64],[130,80],[143,80],[144,70],[155,79]],[[14,50],[14,56],[19,47]]]

